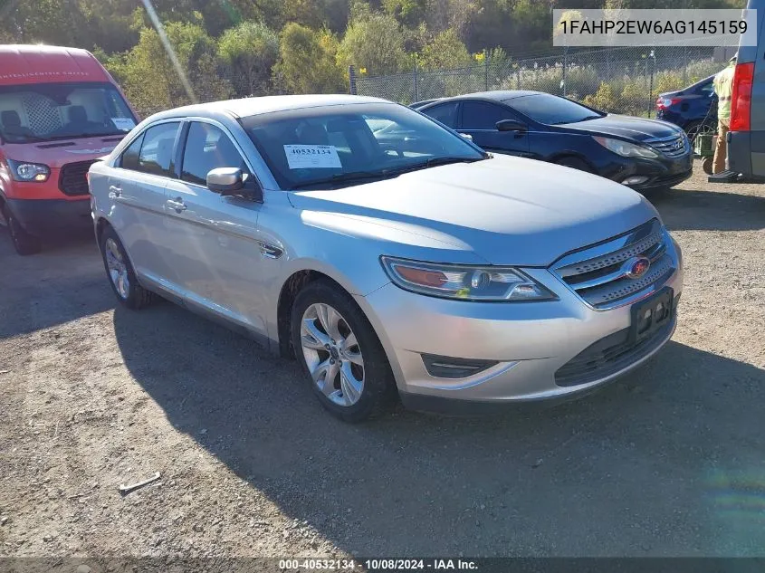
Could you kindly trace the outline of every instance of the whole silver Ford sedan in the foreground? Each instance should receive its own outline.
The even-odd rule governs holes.
[[[397,396],[470,413],[586,393],[674,331],[681,253],[643,196],[385,100],[164,111],[90,186],[120,302],[159,294],[294,356],[346,421]]]

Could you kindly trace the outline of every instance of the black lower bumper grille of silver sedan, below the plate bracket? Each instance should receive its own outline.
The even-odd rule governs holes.
[[[679,298],[679,297],[677,297]],[[677,306],[675,298],[674,306]],[[623,329],[588,346],[555,373],[555,383],[562,387],[589,384],[628,368],[645,358],[669,337],[674,329],[674,317],[665,327],[647,339],[635,342],[629,330]]]

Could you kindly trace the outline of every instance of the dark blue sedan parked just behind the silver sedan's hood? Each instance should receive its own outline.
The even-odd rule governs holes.
[[[418,109],[493,153],[596,173],[638,191],[691,177],[682,129],[654,119],[606,114],[540,91],[485,91]]]

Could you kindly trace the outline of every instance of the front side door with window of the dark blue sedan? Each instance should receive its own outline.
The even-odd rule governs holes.
[[[460,133],[473,138],[473,143],[494,153],[527,157],[529,135],[525,131],[500,131],[497,121],[520,117],[512,110],[489,101],[463,100]]]

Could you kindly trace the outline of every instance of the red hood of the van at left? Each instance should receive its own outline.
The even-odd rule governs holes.
[[[56,139],[33,143],[5,143],[5,157],[15,161],[43,163],[61,167],[66,163],[102,158],[114,149],[124,136]]]

